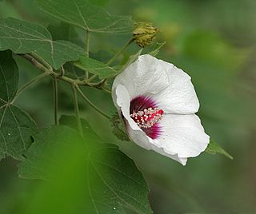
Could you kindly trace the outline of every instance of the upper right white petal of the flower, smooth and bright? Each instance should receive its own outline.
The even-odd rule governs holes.
[[[165,113],[190,114],[198,112],[199,102],[190,76],[173,64],[162,61],[166,67],[170,85],[154,95],[158,107]]]

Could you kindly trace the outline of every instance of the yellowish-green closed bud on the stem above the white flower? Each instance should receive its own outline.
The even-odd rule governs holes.
[[[134,40],[138,46],[144,48],[150,46],[155,39],[158,29],[154,27],[151,23],[138,22],[134,29]]]

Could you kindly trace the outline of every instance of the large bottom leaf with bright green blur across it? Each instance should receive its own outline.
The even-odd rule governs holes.
[[[66,117],[65,122],[73,126],[74,117]],[[90,131],[89,127],[84,129],[85,136]],[[62,125],[34,136],[18,173],[25,178],[52,177],[54,181],[43,186],[42,195],[30,200],[34,208],[30,213],[124,213],[123,207],[152,213],[146,181],[134,161],[116,147],[100,142],[88,147],[90,143]]]

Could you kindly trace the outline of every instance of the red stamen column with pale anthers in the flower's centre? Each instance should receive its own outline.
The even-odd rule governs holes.
[[[148,108],[142,111],[130,114],[130,117],[138,124],[140,128],[148,129],[161,120],[163,114],[162,109]]]

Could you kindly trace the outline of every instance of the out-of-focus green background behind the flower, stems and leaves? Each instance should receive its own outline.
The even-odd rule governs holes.
[[[201,103],[198,115],[206,133],[234,157],[234,161],[230,161],[206,153],[190,159],[183,167],[132,142],[118,141],[111,133],[110,123],[81,100],[82,117],[107,142],[119,145],[144,173],[154,213],[256,213],[256,2],[90,2],[104,6],[112,14],[132,15],[135,21],[153,22],[159,28],[157,41],[166,41],[166,45],[158,57],[190,74]],[[31,0],[0,1],[0,17],[9,16],[45,26],[50,24],[54,38],[69,39],[83,46],[82,32],[43,14]],[[129,38],[130,35],[96,34],[92,36],[91,56],[106,60]],[[130,46],[123,59],[138,50],[138,46]],[[20,85],[38,75],[28,62],[18,57],[15,60],[22,68]],[[109,94],[96,89],[85,89],[85,92],[101,109],[114,113]],[[69,86],[60,84],[59,94],[61,112],[72,114]],[[41,128],[53,124],[50,79],[28,89],[19,97],[18,105],[26,109]],[[1,214],[18,213],[27,190],[36,182],[19,179],[16,165],[10,158],[0,162]]]

